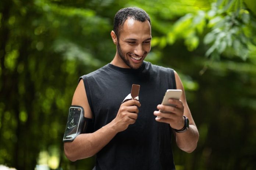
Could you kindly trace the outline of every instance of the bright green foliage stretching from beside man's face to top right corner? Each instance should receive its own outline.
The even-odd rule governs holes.
[[[189,28],[189,29],[188,29]],[[256,18],[251,15],[242,0],[218,0],[207,11],[197,10],[182,16],[163,37],[153,40],[153,46],[163,48],[182,38],[189,51],[194,51],[202,35],[209,46],[205,55],[213,60],[220,56],[238,56],[246,60],[248,45],[256,45]],[[252,55],[251,55],[252,57]]]

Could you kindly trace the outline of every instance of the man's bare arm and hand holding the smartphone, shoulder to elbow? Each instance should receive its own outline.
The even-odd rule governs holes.
[[[185,152],[192,152],[196,149],[199,133],[195,125],[195,122],[192,118],[191,112],[189,110],[188,104],[186,102],[185,91],[182,85],[182,82],[175,72],[175,80],[177,89],[183,91],[180,100],[169,100],[170,104],[174,104],[177,107],[164,106],[159,104],[157,108],[159,110],[165,110],[171,112],[161,113],[160,111],[154,111],[154,115],[160,116],[162,118],[156,118],[156,121],[169,123],[173,129],[182,129],[184,126],[183,115],[189,119],[189,129],[184,133],[175,133],[177,146]]]

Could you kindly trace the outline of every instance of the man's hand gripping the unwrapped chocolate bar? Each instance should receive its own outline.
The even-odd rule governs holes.
[[[141,103],[138,100],[129,100],[121,104],[117,116],[112,121],[117,132],[124,131],[131,124],[134,124],[138,118]]]

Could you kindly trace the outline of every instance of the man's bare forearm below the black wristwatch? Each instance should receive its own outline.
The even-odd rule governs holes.
[[[174,133],[176,144],[181,150],[191,153],[196,149],[199,133],[195,125],[189,125],[189,129],[184,133]]]

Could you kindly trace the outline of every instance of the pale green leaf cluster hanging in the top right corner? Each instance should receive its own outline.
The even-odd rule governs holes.
[[[251,38],[254,35],[246,36],[245,32],[253,29],[248,26],[255,21],[250,21],[249,12],[243,8],[242,0],[230,2],[220,0],[218,3],[217,7],[209,11],[212,15],[209,15],[208,27],[212,31],[206,34],[204,43],[211,44],[211,47],[207,50],[206,56],[219,59],[225,50],[232,48],[234,49],[233,55],[246,60],[249,55],[247,44],[254,42]]]

